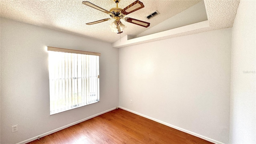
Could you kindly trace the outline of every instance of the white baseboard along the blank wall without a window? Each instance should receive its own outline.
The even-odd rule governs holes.
[[[189,131],[189,130],[185,130],[185,129],[183,129],[183,128],[180,128],[180,127],[178,127],[178,126],[174,126],[174,125],[172,125],[172,124],[168,124],[168,123],[166,123],[166,122],[162,122],[161,120],[157,120],[157,119],[155,119],[155,118],[151,118],[151,117],[146,116],[146,115],[144,115],[144,114],[140,114],[140,113],[138,113],[138,112],[134,112],[134,111],[129,110],[129,109],[127,109],[127,108],[123,108],[123,107],[121,107],[121,106],[118,106],[118,108],[121,108],[121,109],[126,110],[126,111],[128,111],[128,112],[132,112],[132,113],[137,114],[137,115],[139,115],[139,116],[142,116],[142,117],[144,117],[144,118],[148,118],[148,119],[153,120],[153,121],[155,121],[155,122],[159,122],[160,124],[164,124],[164,125],[166,125],[166,126],[169,126],[169,127],[171,127],[171,128],[174,128],[174,129],[176,129],[176,130],[180,130],[180,131],[182,131],[182,132],[186,132],[186,133],[188,133],[188,134],[191,134],[191,135],[196,136],[196,137],[198,137],[198,138],[202,138],[202,139],[207,140],[207,141],[209,141],[209,142],[213,142],[213,143],[215,143],[215,144],[224,144],[224,143],[219,142],[219,141],[217,141],[217,140],[213,140],[213,139],[211,139],[211,138],[207,138],[207,137],[202,136],[202,135],[200,135],[200,134],[196,134],[196,133],[191,132],[191,131]]]

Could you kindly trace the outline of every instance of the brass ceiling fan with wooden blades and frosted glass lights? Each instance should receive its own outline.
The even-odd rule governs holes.
[[[96,10],[100,10],[106,14],[109,14],[111,17],[111,18],[105,18],[102,20],[97,20],[95,22],[89,22],[86,24],[87,25],[98,24],[100,22],[105,22],[107,20],[114,19],[114,22],[112,22],[110,24],[110,28],[112,29],[113,32],[116,32],[118,34],[122,33],[124,28],[126,28],[126,26],[124,26],[124,24],[122,24],[122,22],[120,21],[121,19],[124,19],[126,22],[130,22],[132,24],[137,24],[139,26],[143,26],[145,28],[147,28],[150,25],[150,23],[144,22],[142,20],[136,20],[134,18],[129,18],[129,17],[124,18],[127,14],[130,14],[132,12],[135,12],[136,10],[144,8],[143,3],[140,2],[139,0],[136,0],[129,6],[126,6],[126,8],[124,8],[124,9],[118,8],[118,3],[120,2],[120,0],[114,0],[114,2],[116,2],[116,8],[111,8],[110,11],[107,11],[107,10],[100,8],[99,6],[96,6],[95,4],[92,4],[88,1],[83,1],[82,4],[84,4],[86,6],[90,6],[91,8],[94,8]]]

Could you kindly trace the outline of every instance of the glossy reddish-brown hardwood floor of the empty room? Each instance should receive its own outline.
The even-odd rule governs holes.
[[[120,108],[28,144],[213,144]]]

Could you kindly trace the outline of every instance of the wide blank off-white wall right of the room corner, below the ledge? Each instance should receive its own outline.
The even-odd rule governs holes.
[[[231,28],[120,48],[119,106],[228,143],[230,65]]]

